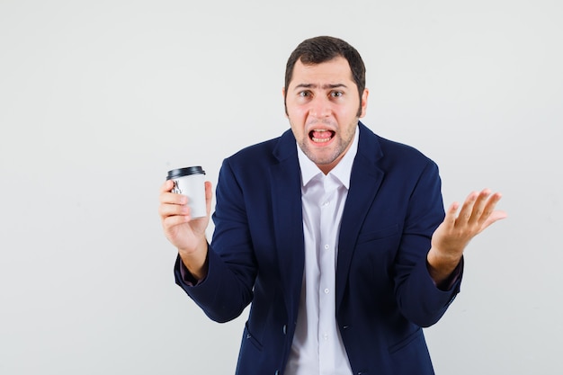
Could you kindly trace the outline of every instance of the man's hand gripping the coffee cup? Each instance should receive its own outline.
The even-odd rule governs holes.
[[[205,202],[207,216],[192,219],[188,198],[172,192],[174,183],[166,181],[160,188],[160,206],[158,213],[165,232],[165,237],[178,249],[183,264],[192,276],[198,280],[207,275],[207,239],[205,230],[210,222],[211,183],[205,182]]]

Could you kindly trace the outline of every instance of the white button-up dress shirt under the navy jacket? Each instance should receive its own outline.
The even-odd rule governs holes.
[[[338,236],[348,196],[360,130],[328,174],[323,174],[298,146],[305,235],[305,272],[297,327],[287,375],[352,375],[336,324],[335,274]]]

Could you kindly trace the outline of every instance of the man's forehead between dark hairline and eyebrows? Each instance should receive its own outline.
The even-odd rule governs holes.
[[[303,64],[298,60],[293,67],[290,87],[299,85],[355,85],[348,61],[339,56],[320,64]]]

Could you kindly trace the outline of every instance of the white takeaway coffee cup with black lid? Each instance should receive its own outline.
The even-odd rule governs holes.
[[[205,171],[201,166],[188,166],[168,171],[166,176],[166,180],[174,181],[172,192],[188,197],[192,219],[207,216],[204,175]]]

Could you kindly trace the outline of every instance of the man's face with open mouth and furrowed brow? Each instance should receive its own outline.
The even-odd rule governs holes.
[[[348,61],[337,57],[316,65],[298,60],[284,94],[299,147],[327,174],[352,144],[358,119],[365,115],[368,90],[360,100]]]

